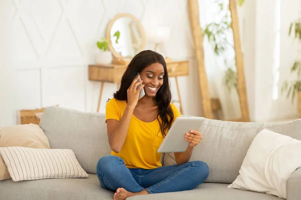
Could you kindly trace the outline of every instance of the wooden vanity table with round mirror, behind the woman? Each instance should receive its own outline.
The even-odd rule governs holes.
[[[118,44],[116,44],[116,31],[120,32]],[[100,93],[98,98],[97,112],[99,112],[100,102],[103,92],[104,82],[116,83],[117,89],[121,77],[131,59],[145,47],[145,32],[140,22],[130,14],[118,14],[108,24],[106,30],[106,41],[108,49],[114,58],[112,64],[89,65],[89,80],[100,81]],[[189,61],[172,61],[166,58],[169,77],[176,79],[180,112],[184,113],[178,76],[189,75]]]

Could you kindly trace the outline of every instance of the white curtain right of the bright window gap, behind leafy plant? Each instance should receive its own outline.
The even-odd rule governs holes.
[[[295,98],[294,103],[292,103],[291,97],[286,98],[286,93],[281,94],[280,90],[284,81],[296,80],[297,78],[295,73],[290,73],[290,68],[294,61],[300,61],[301,43],[299,40],[294,39],[294,34],[288,36],[288,30],[290,23],[301,17],[301,2],[299,0],[276,0],[273,3],[275,4],[277,2],[278,5],[275,5],[276,8],[274,13],[280,14],[280,16],[275,16],[276,22],[278,21],[279,23],[279,40],[277,41],[275,38],[275,41],[279,43],[279,52],[278,56],[274,56],[274,62],[276,64],[278,62],[278,70],[273,73],[273,78],[274,89],[278,89],[278,95],[273,94],[274,99],[271,108],[271,117],[274,117],[275,119],[291,119],[297,117],[297,99]],[[274,51],[277,52],[277,44],[274,45]]]

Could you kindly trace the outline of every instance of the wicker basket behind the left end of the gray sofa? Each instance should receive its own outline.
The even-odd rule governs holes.
[[[59,106],[59,105],[56,105]],[[17,118],[20,119],[20,124],[40,124],[40,119],[37,117],[38,113],[44,112],[45,108],[34,110],[20,110],[17,112]],[[20,117],[18,117],[20,116]]]

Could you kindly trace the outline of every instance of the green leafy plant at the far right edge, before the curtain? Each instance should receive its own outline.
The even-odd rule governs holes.
[[[288,36],[294,34],[294,39],[297,39],[298,43],[301,42],[301,20],[298,19],[292,22],[289,26]],[[301,118],[301,60],[298,53],[296,60],[290,68],[290,73],[296,75],[296,79],[293,81],[284,81],[281,93],[286,92],[286,97],[291,98],[291,103],[294,103],[295,97],[297,97],[297,112]]]

